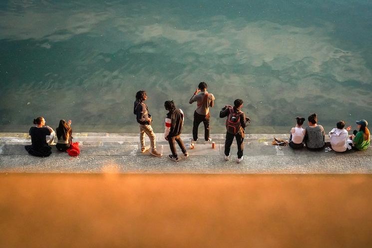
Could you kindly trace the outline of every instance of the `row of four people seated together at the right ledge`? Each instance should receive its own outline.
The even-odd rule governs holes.
[[[291,129],[289,146],[293,149],[300,149],[306,146],[309,150],[317,151],[327,149],[325,142],[325,131],[322,125],[318,125],[317,114],[308,117],[308,126],[303,128],[304,117],[296,117],[297,124]],[[366,120],[356,122],[358,130],[354,130],[352,135],[349,131],[352,126],[345,128],[345,121],[336,123],[336,128],[329,132],[330,148],[336,152],[347,150],[366,150],[370,146],[370,130],[367,128]]]

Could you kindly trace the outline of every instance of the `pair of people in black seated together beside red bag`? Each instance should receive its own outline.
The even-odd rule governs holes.
[[[60,120],[58,127],[54,130],[45,126],[44,117],[40,116],[33,120],[34,127],[29,129],[31,136],[31,145],[24,148],[33,156],[48,157],[51,154],[51,147],[54,144],[54,137],[57,136],[55,147],[58,151],[65,152],[72,143],[71,121]]]

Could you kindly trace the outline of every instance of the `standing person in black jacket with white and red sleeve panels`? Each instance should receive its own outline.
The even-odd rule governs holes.
[[[169,155],[169,158],[174,161],[179,161],[175,141],[177,141],[185,157],[189,156],[180,137],[182,133],[184,115],[181,109],[176,108],[173,101],[165,101],[164,107],[169,111],[165,117],[164,131],[164,138],[169,142],[170,150],[172,152],[172,154]]]

